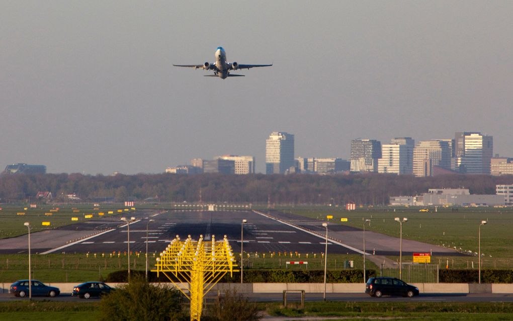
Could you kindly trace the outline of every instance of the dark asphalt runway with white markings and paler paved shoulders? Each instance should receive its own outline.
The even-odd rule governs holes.
[[[126,215],[124,215],[126,217]],[[240,252],[241,223],[246,252],[322,253],[325,250],[325,228],[322,221],[277,211],[137,211],[131,213],[130,251],[159,253],[176,235],[191,235],[204,240],[230,241],[235,253]],[[123,216],[98,218],[61,228],[31,233],[32,253],[111,253],[127,250],[127,224]],[[154,221],[149,221],[150,219]],[[146,229],[148,228],[148,238]],[[363,231],[347,225],[328,225],[328,253],[362,254]],[[399,255],[399,238],[366,231],[367,253]],[[147,243],[146,243],[147,242]],[[26,253],[27,235],[0,240],[0,253]],[[403,255],[432,252],[433,255],[460,255],[451,249],[403,239]]]

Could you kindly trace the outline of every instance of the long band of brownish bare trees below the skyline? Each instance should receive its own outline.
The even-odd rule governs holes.
[[[76,194],[82,201],[249,202],[277,204],[388,204],[389,196],[418,195],[428,188],[469,188],[471,194],[495,194],[496,184],[513,176],[392,174],[338,175],[82,175],[11,174],[0,176],[0,201],[34,200],[49,191],[54,201]]]

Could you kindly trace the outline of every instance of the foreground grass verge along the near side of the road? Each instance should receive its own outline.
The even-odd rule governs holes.
[[[1,320],[94,320],[99,302],[14,301],[0,303]],[[435,303],[435,302],[317,302],[305,308],[283,308],[279,303],[260,303],[262,313],[301,317],[325,317],[325,320],[510,320],[511,303]],[[208,312],[207,312],[208,313]]]

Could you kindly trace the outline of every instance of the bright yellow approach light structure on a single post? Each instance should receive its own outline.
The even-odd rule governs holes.
[[[176,235],[156,259],[157,276],[163,273],[174,286],[191,301],[191,321],[200,320],[203,297],[228,272],[234,270],[235,259],[226,235],[222,241],[204,241],[200,235],[198,241],[189,235],[185,241]],[[189,291],[178,283],[189,284]]]

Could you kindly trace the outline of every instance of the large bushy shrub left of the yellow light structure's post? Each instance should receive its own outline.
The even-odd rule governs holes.
[[[129,284],[106,295],[99,310],[101,321],[174,321],[183,318],[179,290],[170,285],[153,286],[139,275],[132,275]]]

